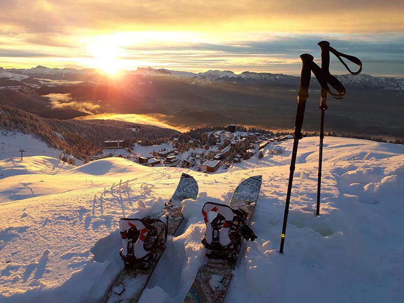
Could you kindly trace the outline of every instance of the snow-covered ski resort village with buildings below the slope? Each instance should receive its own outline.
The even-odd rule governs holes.
[[[199,139],[188,141],[194,147],[180,153],[173,147],[178,138],[158,146],[142,146],[136,142],[132,149],[126,148],[124,140],[105,141],[102,157],[121,157],[145,166],[182,167],[205,173],[216,172],[219,168],[228,169],[234,163],[240,163],[254,155],[261,159],[264,152],[281,154],[281,141],[293,139],[292,135],[276,137],[272,133],[252,133],[236,131],[236,125],[230,124],[224,130],[207,133],[204,145]],[[209,145],[212,144],[212,145]],[[91,157],[91,160],[101,157]]]

